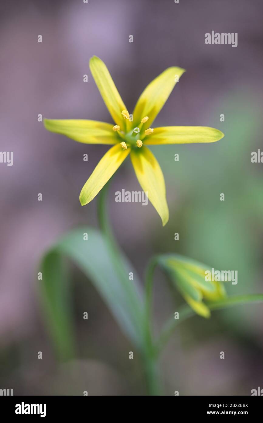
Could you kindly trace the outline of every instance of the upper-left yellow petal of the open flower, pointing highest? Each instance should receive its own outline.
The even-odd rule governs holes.
[[[93,56],[89,60],[89,69],[114,123],[119,125],[122,131],[127,132],[130,129],[131,123],[129,119],[125,119],[122,116],[122,110],[127,110],[127,107],[119,95],[119,91],[111,78],[107,66],[100,58]]]

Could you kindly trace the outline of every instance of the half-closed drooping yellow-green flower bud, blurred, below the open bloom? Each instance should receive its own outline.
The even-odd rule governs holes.
[[[206,281],[209,266],[178,254],[159,255],[158,263],[171,277],[185,301],[200,316],[210,317],[210,310],[203,300],[213,302],[226,297],[223,283]]]

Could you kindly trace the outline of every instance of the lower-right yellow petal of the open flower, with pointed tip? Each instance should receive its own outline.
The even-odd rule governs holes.
[[[133,149],[130,158],[138,181],[160,214],[164,226],[169,219],[169,210],[166,202],[165,181],[160,165],[149,148],[144,146]]]

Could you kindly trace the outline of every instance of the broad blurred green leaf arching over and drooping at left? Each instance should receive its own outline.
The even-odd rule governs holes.
[[[84,233],[88,234],[86,241],[83,239]],[[40,294],[59,357],[72,357],[75,343],[70,286],[65,277],[63,256],[79,266],[103,297],[121,330],[138,349],[143,349],[145,314],[142,296],[136,287],[136,272],[120,254],[118,260],[127,272],[119,275],[105,236],[97,230],[83,227],[63,236],[43,258]],[[129,272],[133,272],[134,280],[129,280]]]

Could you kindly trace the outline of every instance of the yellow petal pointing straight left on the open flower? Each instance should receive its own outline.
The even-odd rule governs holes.
[[[84,119],[44,119],[48,131],[66,135],[79,143],[116,144],[119,138],[112,130],[112,125]]]

